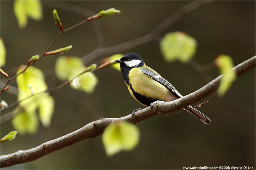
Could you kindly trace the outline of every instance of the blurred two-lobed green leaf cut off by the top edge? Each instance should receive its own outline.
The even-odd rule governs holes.
[[[20,28],[25,28],[28,17],[39,21],[42,19],[41,1],[14,1],[14,13]]]

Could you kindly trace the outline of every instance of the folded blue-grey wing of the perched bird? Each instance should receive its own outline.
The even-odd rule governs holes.
[[[171,83],[169,83],[167,80],[165,80],[164,78],[161,77],[161,75],[155,74],[150,72],[149,70],[145,70],[142,69],[142,72],[144,74],[146,74],[148,77],[150,77],[151,79],[161,83],[162,85],[164,85],[165,87],[167,87],[169,90],[171,90],[172,92],[174,92],[175,96],[180,98],[182,97],[182,95],[180,94],[180,92],[178,92],[178,90],[176,90],[174,88],[174,86],[171,85]]]

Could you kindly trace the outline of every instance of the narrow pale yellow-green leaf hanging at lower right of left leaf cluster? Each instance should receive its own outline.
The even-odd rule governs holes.
[[[40,100],[38,112],[39,112],[39,118],[45,127],[50,125],[53,111],[54,111],[53,97],[52,96],[43,97],[42,100]]]

